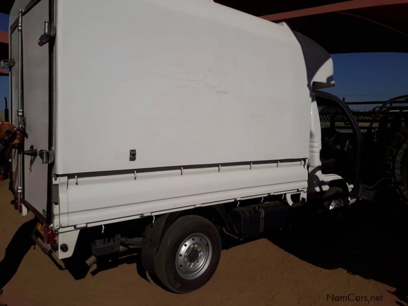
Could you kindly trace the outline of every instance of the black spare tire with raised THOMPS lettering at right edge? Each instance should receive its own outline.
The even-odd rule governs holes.
[[[391,140],[385,155],[385,172],[390,175],[400,199],[408,203],[408,129],[404,126]]]

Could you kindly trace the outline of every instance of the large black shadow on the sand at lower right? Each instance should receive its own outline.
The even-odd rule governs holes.
[[[297,224],[268,238],[320,268],[343,268],[393,287],[391,293],[408,304],[407,221],[406,206],[362,201],[348,207],[339,224]]]

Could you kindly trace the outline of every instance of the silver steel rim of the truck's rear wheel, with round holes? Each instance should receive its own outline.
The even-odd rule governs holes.
[[[180,245],[175,265],[179,275],[185,279],[201,276],[208,268],[212,257],[210,239],[203,234],[193,234]]]

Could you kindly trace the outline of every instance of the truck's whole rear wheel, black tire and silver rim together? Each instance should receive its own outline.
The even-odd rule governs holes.
[[[217,227],[200,216],[183,216],[164,234],[155,256],[154,272],[169,290],[187,293],[210,280],[220,255]]]

